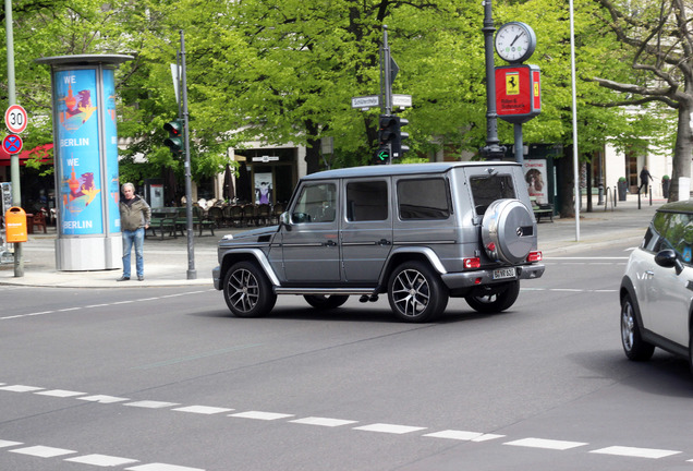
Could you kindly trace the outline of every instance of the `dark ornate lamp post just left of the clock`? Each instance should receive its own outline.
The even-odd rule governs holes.
[[[482,154],[486,160],[500,160],[506,147],[498,145],[498,113],[496,110],[496,74],[494,64],[494,16],[491,0],[484,0],[484,51],[486,56],[486,147]]]

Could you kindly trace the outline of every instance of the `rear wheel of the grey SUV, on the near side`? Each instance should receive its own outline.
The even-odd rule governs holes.
[[[388,300],[392,312],[402,321],[434,319],[445,311],[448,299],[448,289],[425,263],[405,262],[390,275]]]

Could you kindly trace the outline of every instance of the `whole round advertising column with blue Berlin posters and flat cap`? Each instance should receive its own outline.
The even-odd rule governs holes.
[[[52,69],[59,270],[121,266],[114,65],[131,59],[37,60]]]

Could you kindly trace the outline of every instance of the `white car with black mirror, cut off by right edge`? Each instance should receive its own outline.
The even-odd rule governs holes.
[[[693,369],[693,202],[662,205],[621,281],[621,342],[630,360],[659,347]]]

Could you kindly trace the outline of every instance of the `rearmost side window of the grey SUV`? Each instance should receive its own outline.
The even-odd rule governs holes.
[[[442,178],[401,180],[397,184],[400,219],[448,219],[450,193]]]

